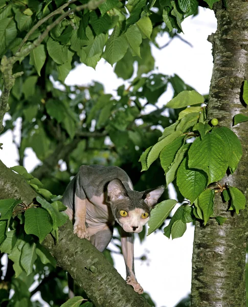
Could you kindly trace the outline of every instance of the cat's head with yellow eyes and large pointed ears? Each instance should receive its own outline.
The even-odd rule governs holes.
[[[117,223],[126,232],[139,233],[150,219],[150,211],[164,192],[164,186],[143,192],[126,189],[119,179],[107,185],[106,202]]]

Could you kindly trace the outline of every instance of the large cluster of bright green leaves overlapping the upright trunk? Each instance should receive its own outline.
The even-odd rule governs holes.
[[[238,137],[228,127],[211,127],[207,123],[204,97],[195,91],[183,91],[167,103],[170,108],[181,108],[175,123],[164,129],[159,141],[148,147],[140,157],[142,170],[160,159],[167,186],[176,185],[189,205],[180,206],[172,216],[164,234],[172,238],[182,236],[186,223],[198,219],[207,224],[215,218],[222,224],[226,218],[214,214],[214,195],[221,192],[227,210],[237,214],[244,209],[245,196],[228,183],[218,181],[226,173],[233,173],[242,156]],[[157,204],[148,223],[148,234],[159,228],[176,204],[175,200]]]

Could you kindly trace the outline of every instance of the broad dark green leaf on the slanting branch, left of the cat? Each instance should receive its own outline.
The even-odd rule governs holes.
[[[53,229],[48,211],[43,208],[29,208],[26,210],[24,227],[25,232],[36,235],[40,243]]]

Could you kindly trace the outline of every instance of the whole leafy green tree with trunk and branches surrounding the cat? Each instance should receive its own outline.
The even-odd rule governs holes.
[[[208,0],[200,4],[212,8],[215,2]],[[238,11],[240,6],[242,10]],[[235,124],[247,120],[237,96],[239,93],[243,97],[241,102],[247,103],[248,85],[244,81],[247,80],[247,60],[242,57],[239,62],[235,53],[239,46],[237,52],[240,54],[238,43],[245,41],[247,25],[241,21],[245,19],[247,4],[234,0],[227,2],[226,6],[215,4],[220,28],[213,39],[215,68],[209,100],[204,100],[176,75],[151,72],[154,59],[150,43],[157,46],[155,39],[159,33],[168,32],[171,38],[177,36],[182,31],[182,20],[197,13],[196,0],[137,0],[127,3],[115,0],[92,0],[88,3],[76,0],[0,1],[0,8],[3,78],[0,123],[7,111],[11,115],[0,130],[4,133],[13,129],[17,118],[22,121],[21,141],[17,143],[19,166],[8,169],[0,163],[0,248],[1,257],[4,253],[9,257],[0,290],[2,304],[38,306],[38,302],[30,301],[31,295],[37,291],[53,306],[59,306],[66,300],[67,295],[63,293],[66,276],[64,271],[55,267],[51,252],[58,266],[69,272],[84,289],[85,292],[76,289],[77,294],[91,299],[94,305],[152,305],[149,297],[146,296],[148,303],[126,286],[91,244],[73,236],[72,226],[63,213],[59,195],[70,177],[76,174],[81,164],[100,163],[121,166],[131,174],[138,190],[163,184],[166,173],[166,184],[173,182],[178,201],[187,199],[189,202],[184,202],[171,217],[170,224],[164,229],[165,235],[176,238],[183,235],[187,223],[196,223],[193,306],[210,306],[217,302],[243,306],[246,210],[243,210],[245,199],[242,192],[245,192],[246,181],[241,182],[239,174],[245,179],[245,156],[240,163],[239,160],[242,155],[240,141],[245,149],[246,123],[238,126],[238,137],[229,128],[234,115]],[[221,32],[226,31],[226,26],[231,27],[229,24],[222,27],[227,16],[230,25],[235,25],[235,31],[230,28],[229,34],[235,38],[232,41],[237,42],[237,45],[232,45],[235,47],[232,52],[228,51],[230,53],[223,50],[229,45],[222,39],[226,32]],[[109,36],[110,29],[113,30]],[[245,50],[245,42],[242,48]],[[223,69],[228,56],[231,60],[235,59],[231,61],[230,76]],[[99,83],[87,88],[65,85],[62,89],[56,88],[53,80],[63,84],[77,62],[96,67],[101,57],[110,64],[117,62],[115,72],[123,79],[133,75],[134,63],[138,65],[137,77],[130,81],[127,89],[124,85],[120,86],[117,97],[105,94]],[[219,70],[217,65],[222,57]],[[155,105],[168,83],[173,86],[174,98],[163,108],[143,115],[145,105],[142,99],[145,99],[145,104]],[[227,91],[226,87],[230,90]],[[224,109],[220,102],[223,97],[226,102]],[[208,108],[202,104],[204,102]],[[236,113],[231,111],[232,103],[238,106]],[[162,115],[166,108],[168,117]],[[210,124],[213,118],[218,121]],[[137,119],[142,120],[141,125]],[[154,124],[163,126],[163,134],[159,129],[152,128]],[[237,128],[232,129],[237,132]],[[194,142],[186,141],[189,138],[194,138]],[[27,147],[32,147],[42,161],[32,174],[23,167]],[[205,152],[200,151],[202,148]],[[162,168],[157,160],[159,157]],[[205,163],[200,160],[202,157],[205,157]],[[142,173],[139,158],[143,170],[146,170]],[[66,165],[65,171],[61,171],[61,161]],[[231,174],[222,180],[226,172]],[[215,181],[218,184],[213,185]],[[220,193],[224,203],[220,196],[214,197],[214,194]],[[164,195],[164,199],[167,198]],[[174,200],[162,200],[153,209],[149,233],[163,226],[175,203]],[[221,231],[227,234],[224,242],[222,237],[218,240]],[[140,234],[141,239],[144,235],[144,232]],[[239,249],[236,245],[234,248],[231,242],[234,237]],[[214,238],[217,238],[216,241]],[[206,242],[204,251],[199,242]],[[228,252],[222,257],[223,248]],[[80,253],[80,258],[77,253]],[[235,261],[230,260],[232,253],[237,255]],[[202,261],[202,254],[205,261]],[[214,258],[213,264],[215,254],[218,257]],[[111,262],[108,250],[104,255]],[[242,266],[239,267],[240,263]],[[216,287],[212,274],[220,276],[223,264],[225,268],[230,268],[229,275],[221,275],[221,282],[218,280]],[[215,270],[211,271],[212,266]],[[28,288],[36,274],[39,285],[29,293]],[[196,275],[200,276],[200,280],[195,278]],[[242,287],[233,291],[233,285],[240,280],[243,281]],[[54,284],[56,290],[51,294],[47,290]],[[15,292],[9,301],[11,289]],[[228,296],[225,296],[226,293]],[[225,301],[226,297],[228,301]],[[78,305],[83,302],[82,298],[76,299],[79,300]]]

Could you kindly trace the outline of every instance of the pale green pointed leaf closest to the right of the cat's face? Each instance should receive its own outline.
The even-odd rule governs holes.
[[[171,210],[175,207],[177,201],[175,200],[167,200],[157,204],[151,210],[151,217],[148,222],[148,233],[147,235],[151,234],[157,228],[159,228],[166,218],[169,216]]]

